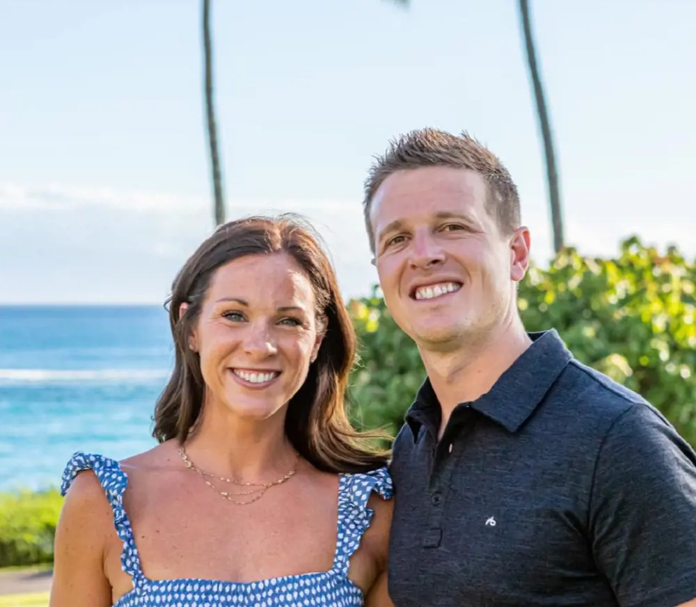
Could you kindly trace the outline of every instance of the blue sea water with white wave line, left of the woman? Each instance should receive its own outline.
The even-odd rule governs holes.
[[[161,306],[0,306],[0,491],[58,486],[77,450],[155,446],[172,363]]]

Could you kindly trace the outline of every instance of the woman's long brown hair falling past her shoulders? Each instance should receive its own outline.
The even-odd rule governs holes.
[[[375,443],[383,435],[357,432],[347,417],[345,393],[356,336],[335,272],[314,230],[288,215],[252,216],[219,226],[177,274],[168,300],[175,364],[157,400],[152,434],[160,442],[184,441],[200,416],[205,382],[189,337],[216,269],[245,255],[280,252],[291,255],[306,272],[326,327],[317,359],[287,406],[285,434],[300,455],[322,471],[355,473],[384,466],[388,453]],[[180,317],[182,303],[189,307]]]

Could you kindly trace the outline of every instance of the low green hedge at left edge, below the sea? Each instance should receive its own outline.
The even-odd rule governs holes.
[[[0,567],[53,562],[62,505],[55,489],[0,494]]]

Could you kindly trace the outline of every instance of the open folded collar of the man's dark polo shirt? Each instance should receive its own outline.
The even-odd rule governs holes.
[[[508,432],[517,432],[566,368],[572,358],[555,329],[528,333],[532,344],[505,370],[486,394],[468,404]],[[455,409],[456,411],[456,409]],[[414,441],[425,425],[437,436],[442,411],[437,396],[425,379],[406,413]]]

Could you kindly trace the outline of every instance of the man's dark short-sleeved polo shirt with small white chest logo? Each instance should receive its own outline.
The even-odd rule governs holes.
[[[696,597],[696,454],[555,331],[441,441],[429,382],[397,436],[397,607],[673,607]],[[675,378],[673,381],[679,381]]]

